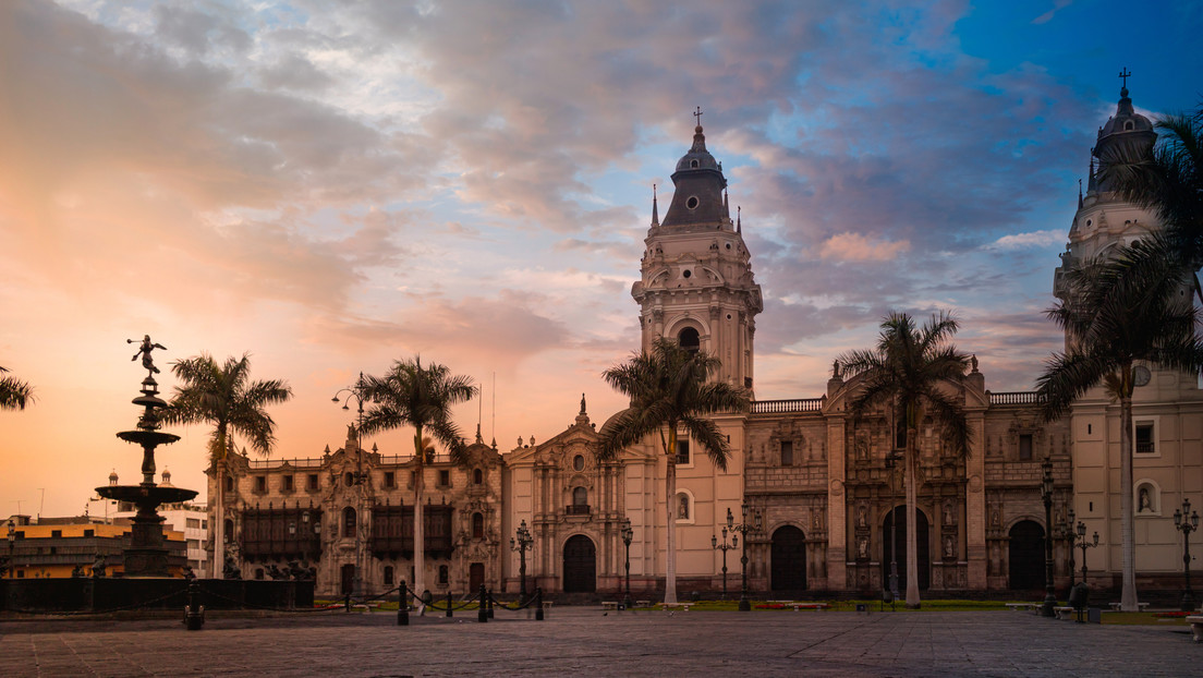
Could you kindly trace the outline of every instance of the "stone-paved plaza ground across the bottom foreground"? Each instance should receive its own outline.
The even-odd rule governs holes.
[[[0,620],[0,676],[1203,676],[1180,621],[1101,626],[1024,612],[497,611]]]

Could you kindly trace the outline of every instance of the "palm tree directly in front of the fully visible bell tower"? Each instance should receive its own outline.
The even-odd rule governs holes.
[[[716,467],[727,470],[730,450],[727,436],[706,414],[746,412],[748,393],[722,382],[709,382],[718,371],[718,358],[681,348],[677,342],[658,338],[651,352],[640,352],[626,364],[602,373],[603,378],[630,397],[630,407],[603,428],[598,458],[612,460],[617,454],[659,434],[668,467],[664,473],[668,554],[665,558],[664,602],[676,602],[676,501],[677,430],[685,429],[706,452]]]

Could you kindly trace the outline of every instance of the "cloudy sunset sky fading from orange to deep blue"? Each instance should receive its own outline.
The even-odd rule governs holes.
[[[277,459],[342,447],[332,396],[416,354],[482,387],[469,440],[547,440],[582,393],[600,425],[698,106],[758,400],[822,395],[890,309],[953,311],[986,388],[1030,389],[1118,73],[1195,108],[1201,29],[1199,1],[0,2],[0,366],[36,395],[0,412],[0,514],[140,481],[143,335],[167,396],[201,353],[286,379]],[[172,432],[159,468],[203,490],[209,429]]]

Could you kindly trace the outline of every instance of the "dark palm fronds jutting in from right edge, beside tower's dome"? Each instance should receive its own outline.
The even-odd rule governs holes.
[[[1166,116],[1154,126],[1161,140],[1151,154],[1127,145],[1103,147],[1098,178],[1125,200],[1157,213],[1167,244],[1157,258],[1179,263],[1185,277],[1203,263],[1203,105],[1195,113]],[[1197,276],[1193,284],[1203,301]]]

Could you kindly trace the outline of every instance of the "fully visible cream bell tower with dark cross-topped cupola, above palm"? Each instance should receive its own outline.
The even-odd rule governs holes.
[[[672,173],[672,201],[659,220],[652,187],[652,224],[645,238],[639,303],[641,346],[657,337],[695,347],[722,360],[717,378],[752,389],[755,316],[764,309],[736,211],[733,222],[723,166],[706,151],[701,110],[693,146]]]

